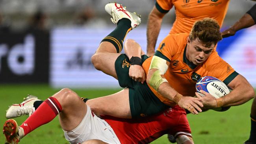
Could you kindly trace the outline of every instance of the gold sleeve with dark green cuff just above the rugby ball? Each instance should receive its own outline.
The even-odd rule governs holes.
[[[223,81],[226,85],[230,83],[238,73],[230,66],[226,61],[224,61],[221,57],[218,56],[218,63],[215,63],[209,70],[209,76],[213,76]]]

